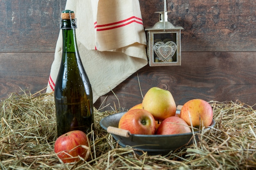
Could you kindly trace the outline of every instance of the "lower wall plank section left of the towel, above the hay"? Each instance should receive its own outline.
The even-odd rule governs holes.
[[[0,53],[0,99],[22,90],[38,92],[47,86],[53,52]]]

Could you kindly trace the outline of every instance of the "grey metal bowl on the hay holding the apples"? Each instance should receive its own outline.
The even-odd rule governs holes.
[[[100,125],[103,129],[107,130],[108,127],[118,127],[120,118],[126,112],[115,113],[101,119]],[[211,126],[207,127],[200,133],[204,133],[215,125],[212,120]],[[175,135],[138,135],[129,134],[127,137],[111,133],[112,136],[119,142],[122,147],[131,146],[135,150],[143,150],[148,155],[167,155],[171,150],[185,147],[194,142],[193,133],[182,133]],[[198,140],[198,134],[194,133],[195,139]],[[136,151],[142,154],[140,151]]]

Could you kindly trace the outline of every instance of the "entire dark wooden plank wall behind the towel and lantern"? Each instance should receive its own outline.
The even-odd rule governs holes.
[[[44,89],[59,33],[61,0],[0,0],[0,98]],[[164,2],[139,0],[144,27]],[[94,106],[129,109],[150,87],[168,89],[177,105],[193,99],[256,103],[254,0],[167,0],[168,21],[182,26],[182,65],[141,68]],[[139,86],[140,85],[140,86]],[[141,87],[141,91],[140,91]],[[113,94],[115,93],[115,94]]]

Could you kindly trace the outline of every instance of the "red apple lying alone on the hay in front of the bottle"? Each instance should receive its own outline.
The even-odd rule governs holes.
[[[83,131],[67,132],[56,139],[54,152],[64,163],[79,161],[79,156],[86,158],[88,149],[87,136]]]

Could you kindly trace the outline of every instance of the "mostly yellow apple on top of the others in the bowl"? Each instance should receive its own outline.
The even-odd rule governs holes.
[[[142,100],[142,107],[159,121],[175,116],[176,113],[176,104],[171,92],[159,87],[148,90]]]

